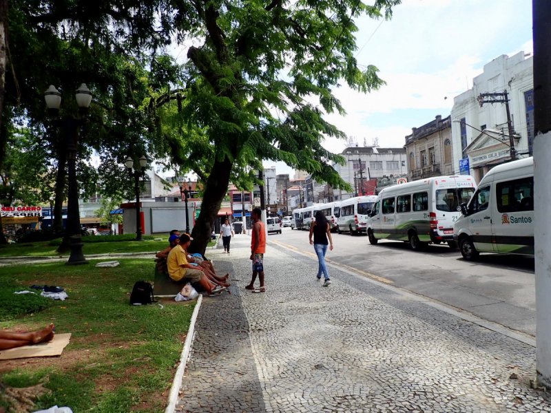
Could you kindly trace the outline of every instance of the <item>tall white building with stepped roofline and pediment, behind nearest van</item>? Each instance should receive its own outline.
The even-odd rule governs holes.
[[[481,93],[507,90],[512,127],[518,138],[515,139],[517,158],[531,155],[534,135],[532,67],[532,57],[526,59],[524,52],[511,57],[503,54],[484,65],[484,72],[473,79],[471,89],[454,98],[451,112],[454,173],[468,173],[479,182],[491,167],[510,160],[506,107],[501,103],[486,103],[480,107],[477,98]],[[485,129],[493,138],[481,133]]]

